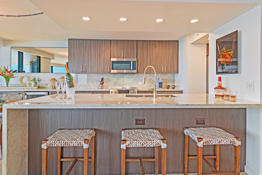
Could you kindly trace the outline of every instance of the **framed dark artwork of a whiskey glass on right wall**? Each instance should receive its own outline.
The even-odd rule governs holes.
[[[216,40],[216,73],[238,73],[238,31]]]

